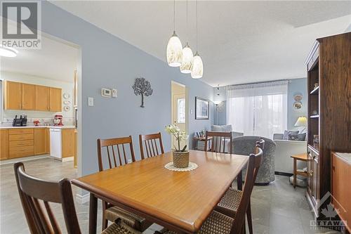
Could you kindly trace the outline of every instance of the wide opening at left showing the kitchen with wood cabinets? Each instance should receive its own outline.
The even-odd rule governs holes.
[[[80,175],[80,87],[81,48],[69,41],[41,32],[40,49],[1,57],[0,164],[35,160]]]

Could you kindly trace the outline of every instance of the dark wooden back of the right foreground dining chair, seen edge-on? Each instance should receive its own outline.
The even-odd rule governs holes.
[[[237,212],[235,212],[235,215],[232,217],[234,219],[234,223],[232,225],[232,229],[230,230],[231,234],[241,233],[245,222],[246,210],[250,204],[251,193],[253,190],[253,185],[255,184],[255,175],[257,174],[256,171],[258,171],[262,162],[263,151],[259,147],[259,144],[256,146],[256,148],[258,148],[258,152],[256,154],[249,155],[249,163],[246,168],[243,195],[241,196]]]

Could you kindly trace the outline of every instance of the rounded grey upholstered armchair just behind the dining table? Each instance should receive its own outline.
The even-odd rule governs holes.
[[[254,152],[256,141],[262,138],[265,140],[265,148],[263,149],[263,162],[258,170],[256,183],[268,184],[274,181],[274,152],[276,144],[269,138],[260,136],[238,136],[233,138],[233,151],[238,155],[250,155]],[[243,180],[245,178],[246,169],[243,170]]]

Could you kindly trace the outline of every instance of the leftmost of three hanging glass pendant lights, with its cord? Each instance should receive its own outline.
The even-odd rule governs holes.
[[[183,59],[183,46],[176,34],[176,0],[173,0],[173,34],[167,44],[167,63],[171,67],[179,67]]]

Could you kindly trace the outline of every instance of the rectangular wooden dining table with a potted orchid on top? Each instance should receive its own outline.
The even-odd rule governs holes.
[[[89,233],[96,233],[98,198],[177,233],[197,233],[248,162],[245,155],[190,150],[192,171],[164,166],[172,153],[72,180],[90,193]]]

